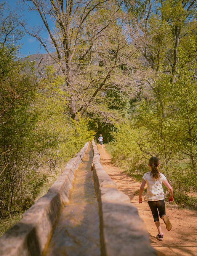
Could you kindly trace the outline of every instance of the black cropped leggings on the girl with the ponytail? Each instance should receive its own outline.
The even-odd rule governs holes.
[[[154,222],[159,221],[159,216],[160,218],[166,214],[166,208],[165,208],[165,202],[163,200],[159,201],[148,201],[148,205],[150,207],[150,210],[153,214],[153,219]],[[159,211],[159,216],[158,216],[158,211]]]

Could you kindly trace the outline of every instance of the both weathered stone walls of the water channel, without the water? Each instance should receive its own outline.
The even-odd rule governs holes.
[[[129,196],[118,190],[116,183],[102,168],[100,154],[93,140],[92,143],[87,142],[76,157],[66,164],[47,194],[36,201],[23,214],[23,218],[0,238],[1,256],[45,255],[62,208],[69,201],[75,171],[83,163],[88,147],[93,151],[92,177],[99,208],[100,254],[156,255],[137,208],[130,203]]]

